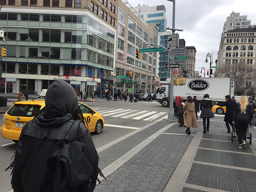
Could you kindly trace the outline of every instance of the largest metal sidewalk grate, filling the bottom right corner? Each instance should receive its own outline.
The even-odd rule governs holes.
[[[256,172],[193,163],[186,183],[232,192],[256,191]]]

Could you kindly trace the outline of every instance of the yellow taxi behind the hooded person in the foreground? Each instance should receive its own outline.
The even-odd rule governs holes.
[[[3,138],[18,142],[22,127],[33,119],[40,109],[44,108],[45,92],[43,90],[37,100],[13,103],[14,105],[4,114],[4,124],[1,129]],[[79,107],[88,124],[89,132],[100,134],[105,123],[103,116],[84,103],[79,102]]]

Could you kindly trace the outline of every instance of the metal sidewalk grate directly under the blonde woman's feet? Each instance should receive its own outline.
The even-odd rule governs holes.
[[[244,153],[253,153],[250,145],[247,143],[246,149],[239,149],[238,143],[231,143],[227,141],[218,141],[218,140],[205,140],[202,139],[199,147],[201,148],[211,148],[211,149],[220,149],[227,151],[236,151],[236,152],[244,152]]]

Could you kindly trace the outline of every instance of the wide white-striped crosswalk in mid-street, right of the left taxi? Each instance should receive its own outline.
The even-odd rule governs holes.
[[[167,112],[147,111],[147,110],[134,110],[134,109],[117,109],[117,108],[93,108],[99,112],[103,117],[116,117],[123,119],[135,119],[143,121],[153,121],[167,119]]]

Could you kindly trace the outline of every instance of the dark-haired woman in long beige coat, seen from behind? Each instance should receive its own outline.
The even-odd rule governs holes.
[[[191,96],[188,96],[188,101],[185,102],[184,105],[184,125],[187,126],[186,132],[190,135],[190,127],[197,128],[197,119],[196,119],[196,111],[195,111],[195,103],[192,100]]]

